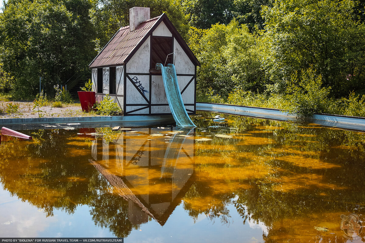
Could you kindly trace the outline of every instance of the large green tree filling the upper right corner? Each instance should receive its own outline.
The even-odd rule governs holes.
[[[271,79],[284,87],[291,74],[312,66],[334,96],[363,89],[365,27],[354,20],[353,7],[350,0],[283,0],[265,7]]]

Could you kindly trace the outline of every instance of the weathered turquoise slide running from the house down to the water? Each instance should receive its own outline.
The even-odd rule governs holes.
[[[195,128],[195,124],[193,124],[185,109],[183,98],[181,98],[175,66],[173,64],[168,64],[167,67],[164,67],[161,63],[157,63],[156,69],[161,69],[166,97],[169,102],[171,113],[176,121],[176,125],[183,128]]]

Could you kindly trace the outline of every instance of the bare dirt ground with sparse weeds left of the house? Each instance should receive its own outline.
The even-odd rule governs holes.
[[[63,104],[64,107],[52,107],[52,103],[40,108],[39,113],[37,107],[34,108],[33,102],[13,103],[19,105],[18,112],[7,114],[7,104],[10,102],[0,101],[0,118],[34,118],[34,117],[81,117],[89,116],[89,113],[82,112],[80,103]],[[95,115],[95,114],[93,114]]]

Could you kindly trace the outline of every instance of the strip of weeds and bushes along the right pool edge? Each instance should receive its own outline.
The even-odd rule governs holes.
[[[297,114],[300,118],[310,117],[314,113],[365,117],[365,95],[351,92],[349,97],[334,99],[329,94],[330,88],[322,87],[322,77],[308,68],[301,71],[300,77],[294,73],[282,94],[234,90],[223,98],[210,88],[206,94],[197,92],[197,101],[274,108]]]

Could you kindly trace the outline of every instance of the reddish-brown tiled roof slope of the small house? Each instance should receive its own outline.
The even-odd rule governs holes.
[[[124,64],[124,61],[132,53],[134,48],[136,48],[142,39],[149,33],[161,16],[139,24],[134,31],[130,31],[129,26],[120,28],[103,50],[101,50],[96,58],[89,64],[89,67],[94,68]]]

